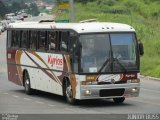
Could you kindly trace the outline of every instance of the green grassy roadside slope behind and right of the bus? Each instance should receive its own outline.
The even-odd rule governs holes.
[[[136,29],[144,44],[141,74],[160,77],[160,0],[75,0],[76,21],[95,18],[126,23]],[[68,13],[57,14],[67,19]],[[69,19],[69,18],[68,18]]]

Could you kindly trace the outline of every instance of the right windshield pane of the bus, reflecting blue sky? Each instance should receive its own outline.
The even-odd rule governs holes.
[[[132,33],[110,34],[113,52],[113,71],[137,69],[136,40]]]

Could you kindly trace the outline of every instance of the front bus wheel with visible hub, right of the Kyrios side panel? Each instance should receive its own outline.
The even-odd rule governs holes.
[[[76,99],[73,98],[72,87],[70,82],[66,82],[66,100],[69,104],[76,104]]]

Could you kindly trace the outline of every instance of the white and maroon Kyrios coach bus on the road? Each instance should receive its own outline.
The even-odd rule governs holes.
[[[116,53],[120,55],[116,55]],[[143,44],[135,29],[109,22],[11,23],[7,29],[8,79],[34,90],[85,99],[137,97]],[[120,56],[120,57],[119,57]]]

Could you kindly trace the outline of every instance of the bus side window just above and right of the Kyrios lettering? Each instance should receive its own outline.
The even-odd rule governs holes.
[[[61,32],[60,50],[68,51],[69,32]]]

